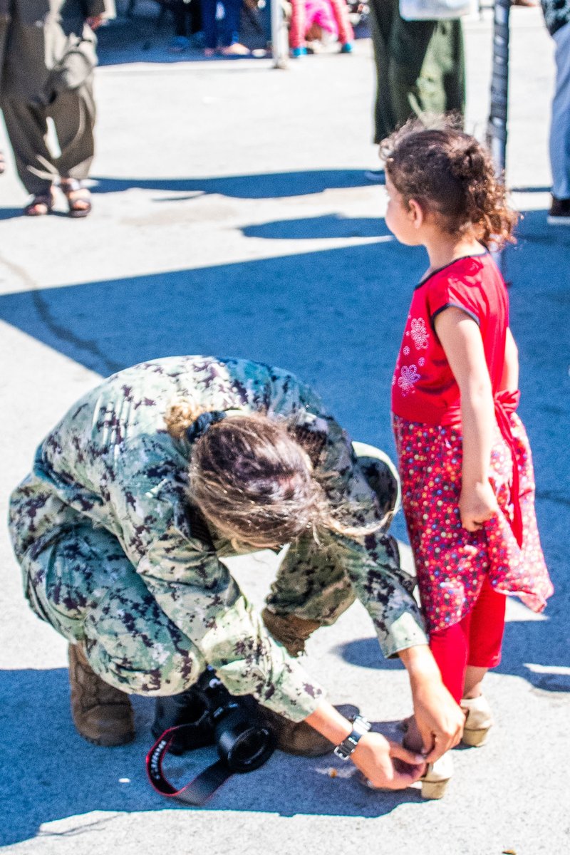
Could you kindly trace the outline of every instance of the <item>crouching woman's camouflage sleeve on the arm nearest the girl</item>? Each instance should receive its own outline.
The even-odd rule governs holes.
[[[328,545],[372,617],[384,655],[427,644],[413,596],[414,579],[400,566],[397,541],[383,527],[373,530],[382,521],[375,493],[358,466],[350,438],[333,419],[326,422],[318,471],[345,532],[327,533]]]

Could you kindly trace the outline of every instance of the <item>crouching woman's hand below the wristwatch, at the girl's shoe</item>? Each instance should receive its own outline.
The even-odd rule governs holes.
[[[364,734],[350,759],[372,787],[388,790],[403,790],[419,781],[426,771],[421,754],[408,751],[382,734]]]

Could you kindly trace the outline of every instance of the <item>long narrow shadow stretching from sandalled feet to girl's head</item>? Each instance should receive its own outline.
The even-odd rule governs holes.
[[[361,169],[314,169],[305,172],[276,172],[257,175],[227,175],[222,178],[106,178],[93,175],[93,193],[132,190],[169,190],[177,193],[219,193],[238,199],[274,199],[309,196],[333,188],[369,186]],[[186,198],[180,198],[184,201]],[[176,199],[170,199],[173,202]]]

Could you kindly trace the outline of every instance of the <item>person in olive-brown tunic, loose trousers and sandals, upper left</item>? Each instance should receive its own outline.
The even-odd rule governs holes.
[[[49,214],[59,183],[69,215],[85,217],[83,185],[94,154],[95,30],[115,15],[114,0],[0,0],[4,24],[0,104],[15,165],[32,199],[24,214]],[[3,14],[2,14],[3,13]],[[61,150],[47,144],[48,119]]]

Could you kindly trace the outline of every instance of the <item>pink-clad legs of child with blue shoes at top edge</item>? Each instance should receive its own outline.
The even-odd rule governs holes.
[[[291,56],[307,53],[307,39],[338,39],[341,51],[350,53],[354,38],[345,0],[291,0]]]

